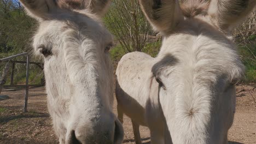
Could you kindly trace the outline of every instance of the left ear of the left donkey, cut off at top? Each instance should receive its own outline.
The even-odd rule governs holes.
[[[53,0],[20,0],[28,15],[37,20],[49,19],[51,13],[57,10],[57,5]]]

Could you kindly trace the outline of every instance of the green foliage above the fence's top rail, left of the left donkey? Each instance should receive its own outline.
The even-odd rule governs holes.
[[[30,50],[35,21],[13,1],[0,2],[0,57]]]

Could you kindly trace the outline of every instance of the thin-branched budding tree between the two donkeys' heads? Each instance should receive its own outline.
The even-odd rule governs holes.
[[[143,51],[154,34],[137,0],[114,0],[105,22],[126,53]]]

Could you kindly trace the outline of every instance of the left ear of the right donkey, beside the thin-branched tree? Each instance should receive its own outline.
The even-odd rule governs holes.
[[[139,0],[139,4],[155,31],[167,33],[183,20],[177,0]]]

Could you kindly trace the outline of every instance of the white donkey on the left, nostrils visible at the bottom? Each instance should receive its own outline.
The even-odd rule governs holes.
[[[44,55],[48,109],[59,142],[123,142],[112,111],[113,38],[100,21],[110,1],[20,2],[39,22],[33,46]]]

